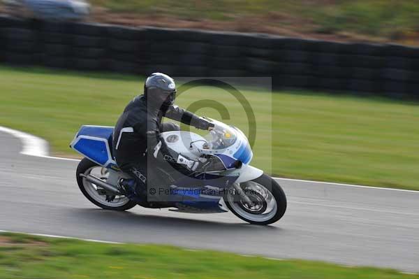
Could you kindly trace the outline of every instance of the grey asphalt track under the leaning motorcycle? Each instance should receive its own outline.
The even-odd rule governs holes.
[[[419,192],[279,180],[288,210],[267,227],[231,213],[140,207],[118,213],[82,196],[75,183],[78,162],[22,155],[22,148],[19,139],[0,132],[2,230],[419,272]]]

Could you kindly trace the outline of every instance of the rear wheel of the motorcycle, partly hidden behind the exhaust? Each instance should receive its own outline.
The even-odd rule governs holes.
[[[137,203],[131,201],[126,196],[107,195],[104,189],[90,183],[86,180],[86,178],[80,176],[80,173],[86,176],[91,174],[97,178],[106,180],[109,175],[108,170],[103,168],[103,166],[99,166],[95,162],[91,162],[87,158],[83,158],[78,164],[75,175],[80,191],[82,191],[84,196],[86,196],[89,201],[96,204],[96,206],[103,209],[124,211],[137,205]]]

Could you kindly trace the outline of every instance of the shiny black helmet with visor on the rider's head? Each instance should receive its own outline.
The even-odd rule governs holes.
[[[167,109],[175,103],[175,80],[164,73],[152,73],[145,80],[144,95],[150,103],[156,104],[162,109]]]

